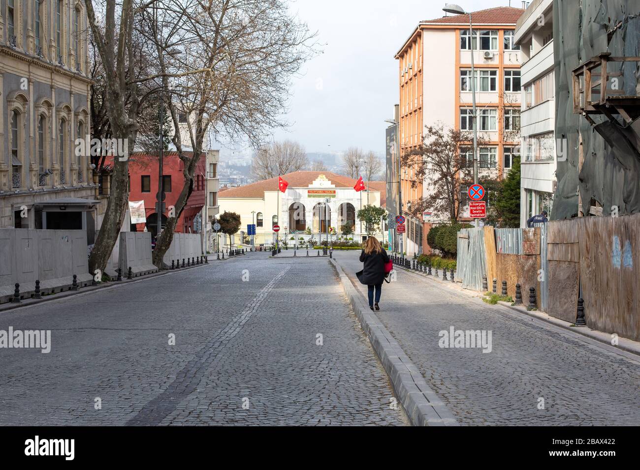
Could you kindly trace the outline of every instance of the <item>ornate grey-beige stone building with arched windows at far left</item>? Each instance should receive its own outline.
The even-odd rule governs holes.
[[[95,231],[81,1],[0,0],[0,227]]]

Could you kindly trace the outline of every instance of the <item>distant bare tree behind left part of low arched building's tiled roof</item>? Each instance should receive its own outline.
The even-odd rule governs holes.
[[[253,157],[253,173],[259,180],[268,180],[278,175],[307,168],[307,152],[293,141],[274,142],[258,150]]]

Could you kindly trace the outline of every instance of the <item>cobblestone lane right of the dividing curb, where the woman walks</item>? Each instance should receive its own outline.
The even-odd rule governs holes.
[[[335,253],[346,274],[359,253]],[[398,270],[378,317],[463,425],[639,425],[640,361],[524,313]],[[445,349],[442,330],[491,330],[492,351]],[[544,409],[538,409],[540,398]]]

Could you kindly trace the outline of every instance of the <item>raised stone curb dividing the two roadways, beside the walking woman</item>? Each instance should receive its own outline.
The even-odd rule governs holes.
[[[355,311],[362,329],[378,354],[385,371],[413,426],[458,426],[458,421],[446,405],[428,386],[418,368],[402,347],[369,309],[342,267],[330,260],[340,278],[340,284]]]

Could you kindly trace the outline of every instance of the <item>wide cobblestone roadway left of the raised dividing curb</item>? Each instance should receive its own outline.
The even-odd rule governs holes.
[[[326,258],[252,253],[7,311],[10,326],[52,346],[0,349],[0,425],[408,425]]]

